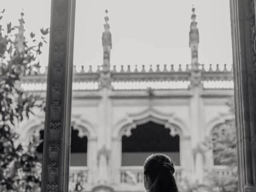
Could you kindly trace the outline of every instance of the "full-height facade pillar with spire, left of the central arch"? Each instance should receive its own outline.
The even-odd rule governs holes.
[[[106,10],[106,14],[108,10]],[[92,189],[93,192],[109,192],[113,189],[110,187],[110,139],[108,138],[111,131],[111,100],[109,98],[109,89],[111,89],[110,74],[110,50],[112,48],[110,25],[108,16],[105,16],[105,31],[102,33],[103,46],[103,64],[100,69],[99,89],[102,93],[102,99],[99,103],[98,116],[98,152],[97,152],[97,179],[98,186]]]

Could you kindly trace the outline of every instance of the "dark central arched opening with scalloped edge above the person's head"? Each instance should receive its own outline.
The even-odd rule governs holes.
[[[171,136],[170,129],[150,121],[131,132],[122,136],[122,166],[142,166],[152,153],[166,154],[180,165],[180,137]]]

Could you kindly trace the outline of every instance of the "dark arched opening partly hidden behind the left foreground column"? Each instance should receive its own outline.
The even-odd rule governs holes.
[[[86,136],[80,138],[78,130],[71,126],[70,166],[87,166],[87,142]],[[40,140],[44,139],[44,130],[40,130]],[[44,142],[36,148],[39,152],[39,159],[42,161]]]

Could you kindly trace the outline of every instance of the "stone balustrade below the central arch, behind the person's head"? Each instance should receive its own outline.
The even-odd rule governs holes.
[[[182,168],[175,166],[174,176],[178,183],[182,180]],[[143,166],[122,166],[120,168],[120,184],[143,185]]]

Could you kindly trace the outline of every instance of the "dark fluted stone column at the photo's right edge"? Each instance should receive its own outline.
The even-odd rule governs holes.
[[[239,189],[256,191],[255,0],[230,0]]]

